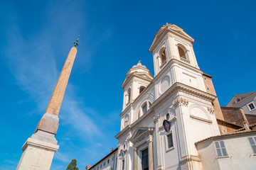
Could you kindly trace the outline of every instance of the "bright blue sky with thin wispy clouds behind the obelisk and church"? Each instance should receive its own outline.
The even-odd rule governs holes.
[[[255,91],[255,11],[256,1],[1,1],[0,169],[16,168],[78,35],[54,170],[72,159],[85,169],[117,147],[125,74],[139,59],[154,74],[148,50],[166,22],[196,39],[221,106]]]

